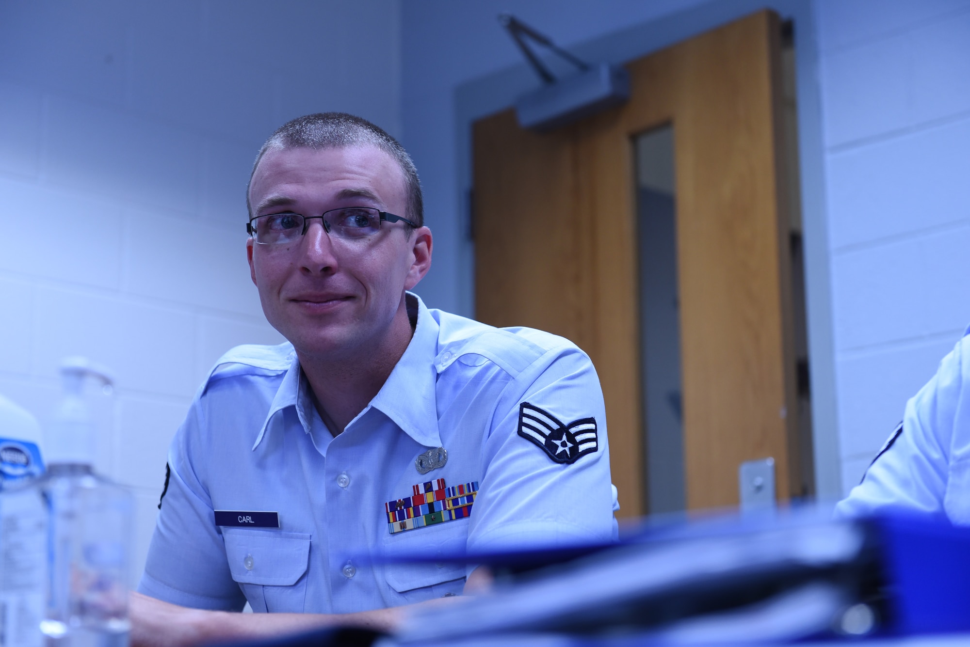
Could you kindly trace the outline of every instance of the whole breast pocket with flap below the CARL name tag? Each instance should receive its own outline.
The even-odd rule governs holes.
[[[223,528],[222,538],[229,570],[253,611],[303,612],[309,535]]]

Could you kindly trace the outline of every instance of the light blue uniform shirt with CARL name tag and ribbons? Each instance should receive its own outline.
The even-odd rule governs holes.
[[[337,437],[292,346],[223,355],[172,443],[139,591],[208,609],[248,601],[257,612],[352,612],[464,587],[463,566],[368,554],[615,538],[606,419],[589,357],[562,337],[429,310],[411,294],[408,305],[417,311],[410,344]],[[447,462],[420,474],[416,459],[437,447]],[[415,486],[424,493],[427,482],[455,488],[447,493],[456,507],[471,501],[467,489],[477,494],[456,518],[391,524],[391,504]],[[275,512],[278,528],[217,526],[214,510]]]

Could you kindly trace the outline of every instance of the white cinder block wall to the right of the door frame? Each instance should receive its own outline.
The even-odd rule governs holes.
[[[970,2],[818,10],[848,491],[970,323]]]

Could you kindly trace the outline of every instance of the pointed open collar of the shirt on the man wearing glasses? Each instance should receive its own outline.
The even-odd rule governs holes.
[[[412,312],[417,310],[417,324],[411,341],[387,381],[377,391],[377,395],[364,411],[350,421],[347,428],[353,426],[373,408],[391,418],[419,445],[441,447],[441,437],[437,428],[437,370],[435,367],[438,325],[421,297],[406,293],[405,298],[408,310]],[[270,411],[259,430],[253,449],[259,447],[277,414],[287,407],[296,408],[304,430],[307,433],[310,432],[311,422],[307,407],[313,405],[309,393],[303,392],[307,388],[307,382],[303,379],[300,369],[300,360],[296,354],[293,354],[293,362],[276,390]]]

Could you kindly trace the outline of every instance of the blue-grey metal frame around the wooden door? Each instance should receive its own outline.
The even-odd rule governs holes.
[[[622,64],[679,43],[705,31],[762,9],[774,10],[794,25],[796,96],[798,105],[798,161],[801,183],[805,307],[811,367],[813,448],[816,496],[842,496],[838,416],[835,390],[835,345],[832,333],[830,254],[824,187],[822,97],[816,41],[814,0],[709,0],[683,12],[667,15],[576,45],[570,51],[586,60]],[[542,25],[536,25],[537,28]],[[498,28],[498,27],[497,27]],[[467,223],[464,248],[459,252],[462,311],[474,310],[474,243],[470,231],[471,125],[510,108],[515,99],[537,86],[533,70],[522,63],[460,85],[455,90],[455,141],[459,195],[465,197]]]

